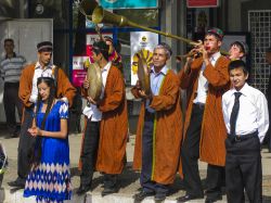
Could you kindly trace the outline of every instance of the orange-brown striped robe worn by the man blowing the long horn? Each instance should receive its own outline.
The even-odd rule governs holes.
[[[225,125],[222,114],[222,94],[230,88],[230,77],[228,65],[230,61],[220,56],[215,67],[209,64],[204,71],[207,78],[208,93],[205,104],[205,111],[202,123],[199,158],[208,164],[224,166],[225,164],[225,147],[227,137]],[[198,58],[191,64],[190,74],[184,74],[183,68],[179,73],[181,88],[186,90],[186,114],[184,122],[183,137],[185,139],[186,130],[190,125],[192,114],[193,100],[197,91],[199,71],[203,59]]]

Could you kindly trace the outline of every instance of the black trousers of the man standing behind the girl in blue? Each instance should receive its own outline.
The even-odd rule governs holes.
[[[25,180],[30,170],[30,161],[35,145],[35,137],[27,130],[33,125],[33,107],[25,107],[24,122],[21,126],[17,154],[17,175]]]

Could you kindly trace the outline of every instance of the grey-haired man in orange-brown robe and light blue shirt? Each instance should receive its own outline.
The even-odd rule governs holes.
[[[179,79],[167,65],[171,53],[167,43],[156,46],[150,69],[150,93],[140,84],[132,88],[133,96],[142,99],[133,155],[133,168],[141,169],[142,190],[133,195],[136,202],[151,195],[155,202],[163,202],[178,169],[182,112]]]

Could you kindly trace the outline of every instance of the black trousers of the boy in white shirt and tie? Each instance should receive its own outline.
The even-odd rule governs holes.
[[[262,202],[260,142],[256,136],[242,141],[225,140],[225,189],[229,203]]]

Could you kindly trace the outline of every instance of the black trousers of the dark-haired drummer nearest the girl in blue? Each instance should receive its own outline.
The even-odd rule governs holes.
[[[82,169],[80,185],[91,186],[96,163],[96,154],[100,139],[100,122],[88,119],[81,152]]]

